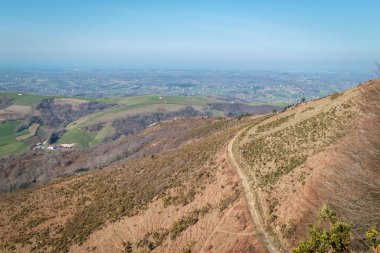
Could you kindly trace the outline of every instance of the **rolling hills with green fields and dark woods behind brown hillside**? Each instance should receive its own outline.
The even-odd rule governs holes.
[[[12,141],[0,142],[0,157],[24,153],[44,142],[93,147],[110,139],[137,133],[150,124],[166,119],[195,115],[239,115],[231,106],[225,106],[223,110],[208,106],[210,103],[222,102],[204,97],[161,95],[91,99],[3,92],[0,93],[0,124],[13,122],[11,125],[14,127],[8,129],[6,125],[3,126],[7,129],[3,134]],[[264,110],[256,110],[261,107],[241,105],[249,110],[241,111],[240,114],[267,113],[277,108],[268,105]],[[194,110],[189,110],[190,107]],[[128,122],[131,127],[121,127],[120,122]],[[32,131],[33,134],[29,131],[28,138],[21,141],[14,136],[22,134],[20,131],[28,131],[33,124],[38,124],[37,131]]]

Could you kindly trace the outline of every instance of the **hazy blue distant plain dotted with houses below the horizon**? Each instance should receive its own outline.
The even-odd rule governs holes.
[[[344,90],[368,72],[52,70],[0,71],[0,91],[79,97],[143,94],[215,96],[240,102],[294,103]]]

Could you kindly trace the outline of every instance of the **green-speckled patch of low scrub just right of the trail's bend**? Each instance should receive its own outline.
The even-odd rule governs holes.
[[[257,133],[275,129],[293,117],[291,114],[259,125]],[[243,159],[255,167],[260,186],[272,185],[303,164],[308,156],[321,152],[342,138],[347,123],[353,117],[349,111],[338,112],[333,108],[281,130],[253,137],[242,147]]]

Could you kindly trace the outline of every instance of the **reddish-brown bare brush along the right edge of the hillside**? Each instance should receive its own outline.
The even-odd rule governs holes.
[[[329,201],[353,226],[356,248],[360,248],[363,231],[380,228],[380,79],[359,87],[361,117],[357,128],[340,146],[331,166],[340,179],[326,191],[336,192]],[[354,186],[354,187],[352,187]]]

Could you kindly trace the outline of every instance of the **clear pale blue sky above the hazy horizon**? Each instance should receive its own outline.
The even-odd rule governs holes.
[[[0,67],[371,69],[380,0],[1,0]]]

